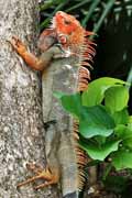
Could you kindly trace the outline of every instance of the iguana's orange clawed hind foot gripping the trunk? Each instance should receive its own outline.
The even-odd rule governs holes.
[[[40,165],[28,164],[26,167],[28,167],[28,169],[35,173],[35,176],[28,178],[25,182],[18,184],[18,186],[16,186],[18,188],[21,186],[24,186],[26,184],[33,183],[37,179],[44,179],[45,182],[38,186],[35,186],[34,187],[35,189],[40,189],[45,186],[58,183],[59,176],[58,176],[57,172],[55,173],[55,170],[54,170],[54,173],[52,173],[52,170],[50,169],[48,166],[46,168],[42,168]]]

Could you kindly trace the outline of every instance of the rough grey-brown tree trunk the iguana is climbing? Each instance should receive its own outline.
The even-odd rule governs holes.
[[[26,162],[45,164],[41,79],[12,50],[12,35],[35,48],[37,0],[0,0],[0,197],[58,198],[55,188],[16,189]]]

